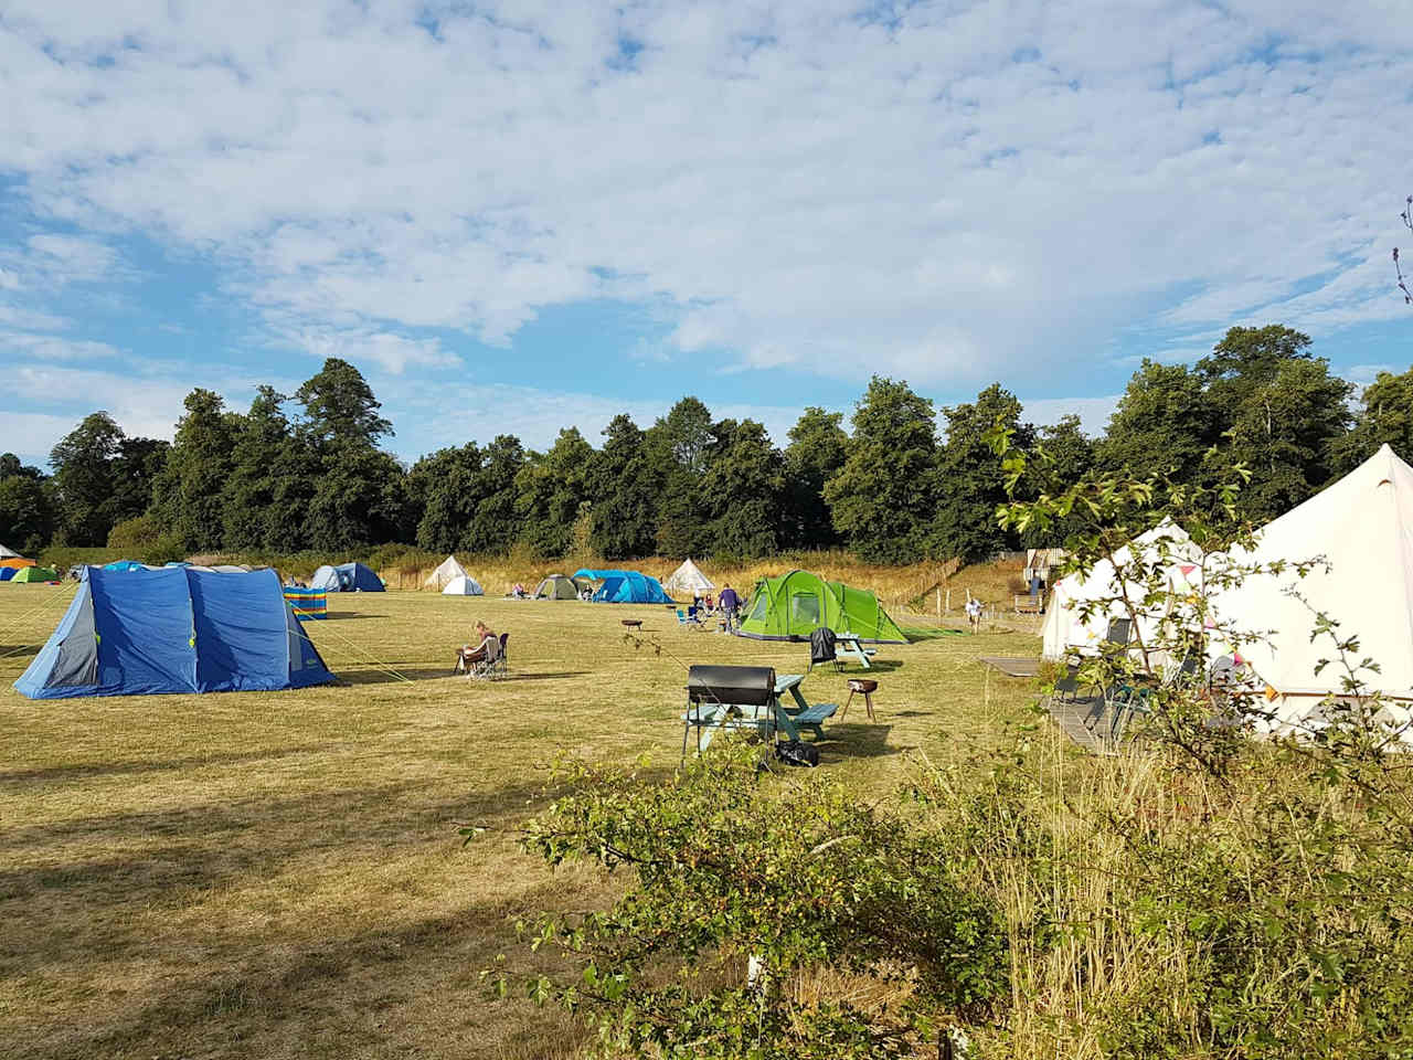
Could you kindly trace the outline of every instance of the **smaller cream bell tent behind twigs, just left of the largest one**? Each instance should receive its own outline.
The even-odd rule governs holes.
[[[1133,551],[1135,546],[1137,546],[1136,553]],[[1161,563],[1169,592],[1183,592],[1197,578],[1200,561],[1201,554],[1187,531],[1171,520],[1163,520],[1123,546],[1115,553],[1112,561],[1101,560],[1096,563],[1088,577],[1080,571],[1067,574],[1056,582],[1046,609],[1044,657],[1060,660],[1075,652],[1094,654],[1109,632],[1109,622],[1130,618],[1121,601],[1095,606],[1088,620],[1082,613],[1087,602],[1092,603],[1119,595],[1116,568],[1129,570],[1130,564],[1135,564],[1133,575],[1139,578],[1137,567],[1149,570]],[[1123,592],[1130,601],[1140,605],[1146,587],[1130,581]],[[1153,642],[1170,605],[1171,599],[1163,602],[1161,612],[1156,609],[1143,612],[1140,609],[1136,633],[1143,637],[1145,643]]]

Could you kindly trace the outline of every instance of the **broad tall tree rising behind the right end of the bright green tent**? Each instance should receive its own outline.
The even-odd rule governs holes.
[[[853,413],[844,466],[825,483],[834,527],[870,563],[913,563],[935,510],[933,403],[901,380],[873,376]]]

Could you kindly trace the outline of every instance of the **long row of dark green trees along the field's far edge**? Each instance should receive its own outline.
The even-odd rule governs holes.
[[[646,428],[616,416],[598,447],[574,427],[544,452],[503,434],[410,468],[380,448],[393,425],[367,382],[331,358],[291,396],[261,386],[244,413],[192,390],[170,444],[126,437],[97,411],[54,447],[51,475],[0,455],[0,541],[171,555],[404,541],[615,558],[842,546],[875,563],[1056,544],[996,523],[1005,472],[986,441],[996,424],[1022,447],[1043,445],[1074,482],[1126,472],[1201,485],[1241,462],[1251,473],[1241,514],[1263,523],[1383,442],[1413,454],[1413,369],[1382,373],[1352,403],[1354,386],[1310,345],[1282,325],[1232,328],[1194,366],[1145,360],[1098,438],[1072,416],[1023,421],[999,383],[938,410],[875,376],[852,432],[841,413],[808,407],[783,447],[760,423],[714,420],[684,397]]]

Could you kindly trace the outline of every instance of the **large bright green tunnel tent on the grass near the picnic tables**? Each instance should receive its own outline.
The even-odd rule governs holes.
[[[750,596],[750,613],[736,630],[757,640],[808,640],[820,626],[853,633],[875,644],[906,644],[903,630],[868,589],[825,581],[808,571],[762,578]]]

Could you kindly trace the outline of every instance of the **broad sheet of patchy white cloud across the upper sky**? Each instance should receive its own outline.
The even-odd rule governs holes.
[[[844,3],[28,0],[0,27],[0,170],[58,220],[213,252],[276,334],[393,373],[452,363],[414,329],[503,343],[603,297],[747,367],[1064,379],[1136,314],[1318,334],[1402,310],[1386,114],[1410,49],[1393,0],[887,25]],[[100,236],[40,239],[57,273],[114,264]]]

